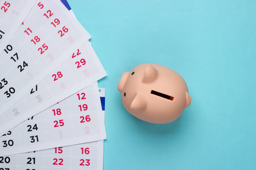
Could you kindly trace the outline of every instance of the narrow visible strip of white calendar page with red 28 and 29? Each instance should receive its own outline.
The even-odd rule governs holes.
[[[106,72],[88,41],[0,116],[0,135],[104,76]]]

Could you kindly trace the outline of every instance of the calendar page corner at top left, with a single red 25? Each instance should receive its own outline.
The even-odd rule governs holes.
[[[37,0],[0,0],[0,54]]]

